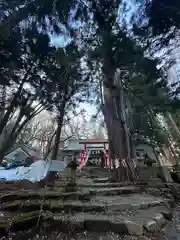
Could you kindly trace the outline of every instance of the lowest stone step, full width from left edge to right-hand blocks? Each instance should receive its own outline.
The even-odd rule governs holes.
[[[172,211],[166,207],[152,207],[125,212],[111,213],[62,213],[50,211],[34,211],[0,219],[0,235],[9,231],[22,231],[37,226],[37,222],[46,229],[59,232],[113,232],[116,234],[146,235],[155,233],[172,219]],[[4,238],[3,238],[4,239]],[[69,238],[68,238],[69,239]],[[85,238],[83,238],[85,239]],[[119,239],[119,238],[118,238]]]

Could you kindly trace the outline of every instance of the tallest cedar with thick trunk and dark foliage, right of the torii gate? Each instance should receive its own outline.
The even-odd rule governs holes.
[[[134,75],[141,73],[145,78],[144,94],[147,92],[146,87],[148,86],[149,98],[146,97],[145,103],[153,100],[155,108],[154,99],[156,98],[154,97],[159,96],[161,106],[168,99],[168,95],[162,97],[157,93],[165,88],[166,82],[162,79],[161,72],[156,68],[157,61],[144,57],[143,49],[137,46],[123,27],[120,27],[118,23],[119,1],[99,0],[88,2],[87,5],[89,6],[89,21],[86,21],[81,39],[83,39],[82,45],[84,44],[84,47],[88,50],[90,70],[100,63],[98,71],[102,73],[103,79],[105,99],[103,109],[108,129],[110,157],[111,159],[118,157],[120,161],[125,159],[133,175],[133,165],[131,164],[132,158],[134,158],[133,129],[122,116],[123,108],[127,107],[126,103],[124,103],[124,106],[120,106],[121,95],[125,94],[121,91],[124,86],[122,84],[119,86],[119,83],[122,82],[128,87],[132,87],[131,79],[135,80]],[[118,84],[115,83],[117,68],[128,72],[129,79],[127,82],[124,81],[124,77],[123,81],[122,79],[120,81],[122,76],[119,76]],[[162,90],[162,92],[164,96],[164,91]],[[124,100],[125,102],[130,101],[129,97],[125,99],[125,96]],[[132,101],[130,101],[130,105],[132,105]],[[117,115],[116,107],[118,107],[118,111],[120,110],[119,115]],[[144,109],[142,110],[142,108],[143,106],[141,106],[143,112]],[[156,111],[157,109],[156,106]],[[130,111],[128,114],[130,114]],[[128,114],[125,118],[129,117]]]

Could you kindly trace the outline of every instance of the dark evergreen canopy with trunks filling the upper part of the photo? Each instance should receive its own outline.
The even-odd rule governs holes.
[[[134,32],[123,24],[122,6],[119,0],[3,1],[0,134],[8,122],[13,126],[0,156],[45,109],[56,119],[52,158],[57,158],[66,114],[92,97],[104,113],[112,158],[132,162],[137,135],[168,139],[157,116],[175,116],[179,99],[162,61],[150,52],[157,51],[154,41],[162,47],[178,32],[179,5],[141,1]]]

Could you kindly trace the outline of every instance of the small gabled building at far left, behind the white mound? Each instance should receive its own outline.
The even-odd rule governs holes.
[[[13,162],[18,161],[22,164],[31,164],[36,160],[40,160],[40,152],[38,149],[31,147],[29,145],[23,144],[20,145],[13,150],[11,150],[7,155],[4,157],[4,162]]]

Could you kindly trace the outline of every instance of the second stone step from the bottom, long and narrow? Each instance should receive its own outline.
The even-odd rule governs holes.
[[[116,212],[125,210],[146,209],[164,205],[169,207],[171,200],[153,197],[148,194],[131,194],[126,196],[94,196],[89,202],[74,200],[24,200],[1,204],[1,211],[28,212],[49,210],[51,212]]]

